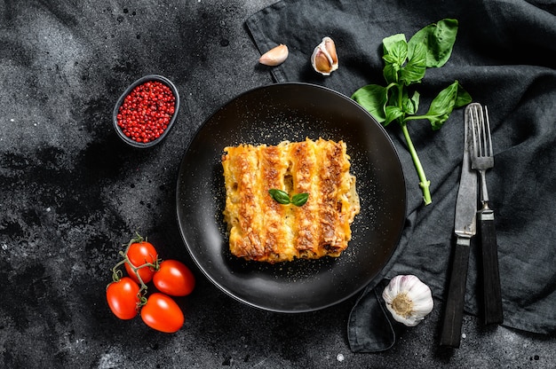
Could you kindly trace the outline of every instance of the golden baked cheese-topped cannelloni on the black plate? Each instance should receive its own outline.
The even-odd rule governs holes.
[[[338,257],[346,249],[360,203],[343,141],[307,138],[224,150],[224,219],[233,255],[278,263]],[[268,193],[274,188],[309,198],[301,207],[282,205]]]

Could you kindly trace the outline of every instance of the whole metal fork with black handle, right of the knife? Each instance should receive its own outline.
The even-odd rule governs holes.
[[[494,211],[488,208],[488,189],[486,172],[494,167],[494,150],[490,134],[488,108],[481,104],[471,104],[471,126],[473,131],[473,151],[471,168],[481,176],[481,204],[479,224],[481,232],[482,277],[483,277],[483,312],[485,324],[501,324],[504,321],[502,308],[502,291],[498,269],[496,246],[496,228]]]

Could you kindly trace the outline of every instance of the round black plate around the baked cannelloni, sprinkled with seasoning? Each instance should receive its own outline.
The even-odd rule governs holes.
[[[222,216],[224,147],[306,137],[347,144],[361,213],[346,251],[274,265],[231,255]],[[204,122],[179,168],[177,208],[189,253],[226,294],[265,310],[311,311],[346,300],[384,268],[405,220],[405,181],[390,137],[351,98],[312,84],[278,83],[243,93]]]

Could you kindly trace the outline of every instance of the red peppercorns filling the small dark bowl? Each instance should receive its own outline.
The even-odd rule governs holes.
[[[159,81],[139,84],[123,99],[116,115],[126,137],[147,144],[160,137],[174,114],[176,97]]]

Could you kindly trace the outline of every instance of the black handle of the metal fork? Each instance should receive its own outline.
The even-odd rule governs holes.
[[[502,309],[502,289],[500,287],[500,272],[498,270],[498,251],[496,246],[496,228],[494,211],[489,208],[479,212],[482,276],[484,296],[485,324],[501,324],[504,322]]]

